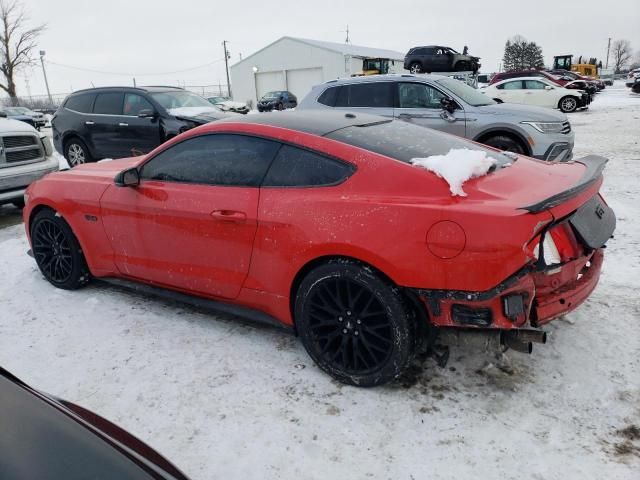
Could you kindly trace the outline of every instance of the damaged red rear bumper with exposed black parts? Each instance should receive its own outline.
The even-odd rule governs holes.
[[[603,249],[563,265],[525,267],[491,290],[414,289],[436,327],[539,327],[581,305],[600,278]]]

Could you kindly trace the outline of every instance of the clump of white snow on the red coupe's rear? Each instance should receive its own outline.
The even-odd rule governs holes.
[[[481,150],[452,148],[445,155],[412,158],[411,164],[444,178],[453,196],[466,197],[462,184],[471,178],[485,175],[496,164],[496,160]]]

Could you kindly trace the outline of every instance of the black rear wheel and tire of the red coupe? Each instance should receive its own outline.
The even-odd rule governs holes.
[[[397,378],[414,354],[414,321],[396,286],[352,260],[317,267],[296,294],[296,329],[305,349],[322,370],[350,385]]]

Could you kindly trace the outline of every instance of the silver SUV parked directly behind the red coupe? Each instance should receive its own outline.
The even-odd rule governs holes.
[[[569,160],[574,134],[564,113],[497,103],[440,75],[372,75],[313,87],[298,110],[337,108],[397,118],[544,160]]]

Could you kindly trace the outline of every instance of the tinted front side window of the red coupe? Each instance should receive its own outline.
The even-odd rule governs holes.
[[[280,144],[244,135],[213,134],[184,140],[142,167],[142,180],[259,187]]]

